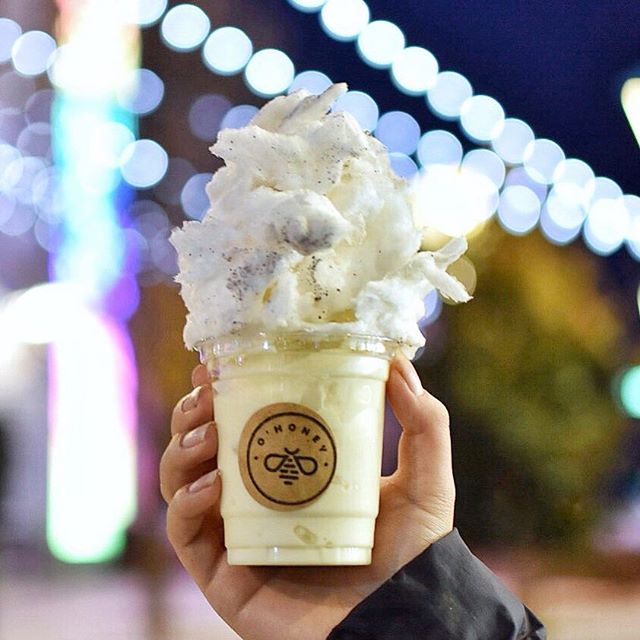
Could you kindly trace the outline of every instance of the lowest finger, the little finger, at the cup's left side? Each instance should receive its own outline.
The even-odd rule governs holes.
[[[167,510],[169,541],[200,585],[224,553],[220,490],[218,471],[210,471],[182,487]],[[200,542],[204,548],[200,548]]]

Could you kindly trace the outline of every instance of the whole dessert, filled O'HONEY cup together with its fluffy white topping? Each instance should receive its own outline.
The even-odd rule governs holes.
[[[212,147],[211,208],[178,250],[185,342],[215,379],[230,564],[368,564],[389,361],[424,339],[464,240],[420,251],[407,185],[345,90],[269,102]],[[366,455],[363,455],[366,452]]]

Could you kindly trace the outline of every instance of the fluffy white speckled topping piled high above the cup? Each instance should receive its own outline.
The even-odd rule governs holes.
[[[433,288],[466,301],[446,267],[465,250],[420,251],[408,186],[387,150],[348,113],[330,113],[346,85],[267,103],[211,147],[225,161],[201,222],[174,230],[189,348],[251,331],[384,336],[409,355]]]

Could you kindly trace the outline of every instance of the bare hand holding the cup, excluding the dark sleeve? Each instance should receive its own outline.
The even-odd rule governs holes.
[[[204,366],[178,403],[160,464],[167,532],[211,606],[244,640],[324,639],[353,607],[453,528],[449,416],[413,365],[393,361],[387,399],[402,425],[398,469],[381,479],[372,563],[361,567],[245,567],[226,562],[217,432]]]

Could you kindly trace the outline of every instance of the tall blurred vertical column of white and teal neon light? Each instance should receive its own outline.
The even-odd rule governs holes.
[[[49,348],[47,543],[69,563],[115,558],[136,512],[136,369],[109,295],[115,287],[119,299],[136,294],[118,203],[126,201],[119,157],[136,133],[122,95],[135,90],[139,34],[118,6],[59,0],[63,44],[50,72],[64,200],[50,271],[73,304],[60,300],[65,329]]]

